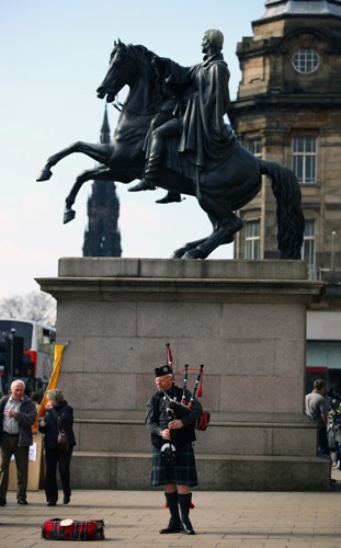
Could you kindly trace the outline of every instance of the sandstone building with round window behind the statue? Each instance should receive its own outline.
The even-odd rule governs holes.
[[[268,0],[237,46],[234,103],[242,145],[292,168],[306,219],[303,259],[326,296],[308,311],[307,386],[341,392],[341,0]],[[279,258],[275,199],[264,180],[239,215],[236,259]]]

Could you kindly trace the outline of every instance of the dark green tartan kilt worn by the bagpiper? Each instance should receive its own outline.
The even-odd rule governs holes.
[[[173,466],[167,466],[161,459],[161,450],[152,447],[152,487],[164,486],[164,483],[177,483],[178,486],[197,486],[195,458],[192,442],[177,447],[177,461]]]

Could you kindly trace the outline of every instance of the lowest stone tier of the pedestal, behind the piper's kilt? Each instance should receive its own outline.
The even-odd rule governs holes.
[[[329,491],[330,464],[314,457],[197,455],[200,491]],[[75,453],[73,489],[149,490],[149,453]],[[152,488],[154,489],[154,488]]]

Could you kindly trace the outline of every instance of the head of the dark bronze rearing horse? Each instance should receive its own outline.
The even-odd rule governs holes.
[[[129,83],[130,68],[126,61],[128,46],[118,39],[114,43],[114,49],[110,56],[109,69],[96,93],[100,99],[106,95],[106,102],[112,103],[118,91]]]

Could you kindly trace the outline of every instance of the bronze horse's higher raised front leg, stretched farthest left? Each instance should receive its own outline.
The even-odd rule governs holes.
[[[62,158],[73,155],[75,152],[81,152],[86,156],[89,156],[96,162],[107,165],[113,149],[112,147],[110,147],[110,145],[92,145],[91,142],[84,142],[81,140],[73,142],[69,147],[64,148],[62,150],[56,152],[47,159],[47,162],[39,172],[36,181],[48,181],[53,175],[50,168],[53,165],[56,165],[56,163],[62,160]]]

